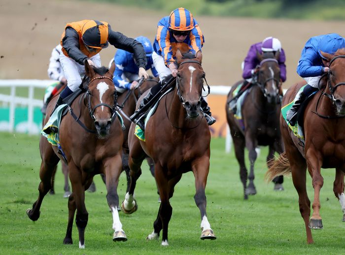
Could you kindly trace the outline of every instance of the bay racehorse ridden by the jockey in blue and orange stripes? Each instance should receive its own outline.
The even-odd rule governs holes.
[[[161,204],[154,230],[148,240],[158,239],[163,229],[162,245],[168,245],[168,224],[173,208],[169,199],[182,174],[193,171],[195,176],[195,203],[201,213],[201,239],[216,239],[206,215],[205,187],[209,171],[210,132],[201,111],[203,79],[202,54],[196,56],[178,50],[176,53],[178,73],[169,85],[173,93],[166,94],[159,102],[155,113],[149,118],[143,142],[134,135],[135,124],[129,132],[131,184],[121,208],[131,214],[137,210],[134,190],[141,174],[140,165],[149,155],[155,163],[155,178]],[[168,85],[168,86],[169,86]],[[137,104],[138,108],[138,104]]]

